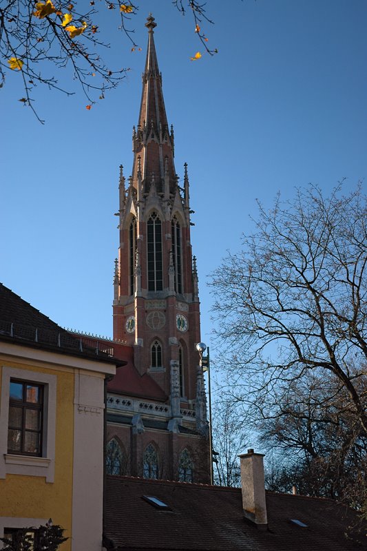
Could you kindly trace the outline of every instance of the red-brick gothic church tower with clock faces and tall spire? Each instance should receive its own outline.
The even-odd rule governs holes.
[[[144,382],[147,392],[153,388],[148,388],[149,380],[159,389],[160,399],[165,400],[162,408],[153,402],[136,406],[140,410],[132,419],[134,437],[160,422],[165,412],[166,433],[176,435],[176,444],[170,444],[170,461],[178,457],[180,450],[196,448],[201,454],[201,472],[205,472],[198,481],[207,481],[208,425],[204,380],[196,350],[200,342],[200,304],[196,258],[191,251],[189,176],[186,163],[183,179],[176,174],[174,129],[167,121],[154,44],[156,22],[151,14],[145,26],[149,38],[140,112],[132,134],[132,176],[126,180],[120,167],[114,340],[134,351],[134,369],[140,377],[135,388],[140,389],[140,395],[144,392],[140,382]],[[118,377],[123,385],[123,368],[120,371]],[[122,391],[117,382],[109,386],[107,406],[111,411],[122,408],[116,398],[116,392]],[[149,412],[156,412],[157,416],[159,413],[160,417],[148,419]],[[116,415],[109,418],[117,419]],[[157,442],[164,437],[156,434],[155,438]],[[186,441],[188,448],[185,438],[190,440],[189,444]],[[135,449],[138,447],[136,444]],[[139,463],[138,451],[134,453]],[[167,476],[176,477],[178,468],[172,468],[172,472],[176,475]]]

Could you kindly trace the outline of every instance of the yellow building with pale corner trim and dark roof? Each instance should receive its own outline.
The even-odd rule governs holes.
[[[125,363],[112,353],[0,284],[0,537],[52,518],[61,550],[101,551],[105,380]]]

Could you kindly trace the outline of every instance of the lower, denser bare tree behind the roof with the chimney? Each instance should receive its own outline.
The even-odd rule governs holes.
[[[273,418],[259,427],[262,446],[275,452],[269,489],[289,492],[294,485],[364,508],[367,437],[348,402],[345,388],[324,373],[307,373],[279,393]]]

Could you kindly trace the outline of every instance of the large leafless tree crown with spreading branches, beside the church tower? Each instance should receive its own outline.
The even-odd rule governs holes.
[[[233,396],[271,418],[280,389],[314,372],[367,435],[366,196],[339,185],[325,198],[310,185],[259,209],[257,230],[211,282]]]

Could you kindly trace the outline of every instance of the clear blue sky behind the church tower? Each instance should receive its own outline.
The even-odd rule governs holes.
[[[354,187],[367,176],[367,3],[208,0],[215,25],[202,28],[219,53],[190,62],[202,49],[189,14],[169,0],[136,1],[132,26],[143,52],[130,52],[106,10],[106,57],[131,71],[89,112],[73,82],[69,98],[39,87],[42,126],[18,101],[19,74],[8,72],[0,90],[0,281],[62,326],[112,335],[118,165],[129,176],[151,11],[180,176],[189,164],[202,340],[210,344],[207,275],[251,229],[255,198],[270,207],[278,190],[288,198],[312,182],[327,192],[343,177]]]

